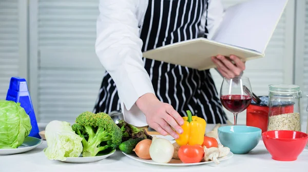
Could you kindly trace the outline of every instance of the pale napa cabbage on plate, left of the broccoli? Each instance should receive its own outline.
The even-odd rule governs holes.
[[[65,121],[51,121],[45,128],[47,148],[45,156],[49,160],[64,161],[67,157],[79,157],[82,152],[82,138]]]

